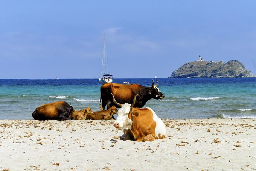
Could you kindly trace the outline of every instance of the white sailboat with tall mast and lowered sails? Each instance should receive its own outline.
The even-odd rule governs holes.
[[[106,42],[105,42],[105,33],[104,33],[104,41],[103,41],[103,54],[102,54],[102,62],[101,62],[101,77],[99,78],[99,83],[111,83],[113,81],[113,75],[105,74],[105,69],[108,73],[108,60],[106,53]],[[106,61],[106,62],[105,62]]]

